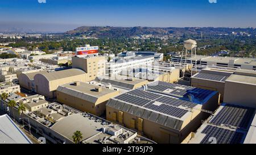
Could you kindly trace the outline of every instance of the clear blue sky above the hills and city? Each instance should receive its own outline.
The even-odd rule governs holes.
[[[78,26],[256,27],[256,1],[1,0],[0,30],[67,31]]]

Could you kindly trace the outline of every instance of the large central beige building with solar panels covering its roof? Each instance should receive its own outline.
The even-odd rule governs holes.
[[[180,143],[217,108],[217,91],[153,82],[111,98],[106,118],[157,143]]]

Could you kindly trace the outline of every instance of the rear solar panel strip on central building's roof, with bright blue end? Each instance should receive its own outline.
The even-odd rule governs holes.
[[[168,94],[174,95],[175,97],[181,97],[183,99],[189,100],[188,95],[193,95],[195,99],[202,101],[209,96],[213,91],[205,90],[191,86],[179,85],[176,83],[167,82],[154,82],[148,85],[148,89],[164,91],[169,89]]]

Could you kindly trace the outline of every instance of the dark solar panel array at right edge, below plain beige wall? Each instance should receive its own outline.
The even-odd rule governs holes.
[[[226,104],[209,123],[216,125],[232,125],[233,127],[247,128],[254,115],[254,108]]]

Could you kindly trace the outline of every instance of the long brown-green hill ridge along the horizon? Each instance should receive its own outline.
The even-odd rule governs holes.
[[[65,35],[86,35],[87,37],[132,37],[138,35],[217,35],[232,32],[248,32],[256,34],[255,28],[213,28],[213,27],[90,27],[82,26],[75,30],[67,31]]]

